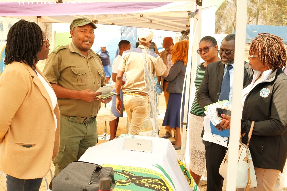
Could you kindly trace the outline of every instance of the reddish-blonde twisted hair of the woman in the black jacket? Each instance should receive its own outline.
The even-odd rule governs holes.
[[[274,34],[258,33],[250,44],[249,55],[257,51],[261,62],[272,70],[286,66],[286,49],[282,40]]]

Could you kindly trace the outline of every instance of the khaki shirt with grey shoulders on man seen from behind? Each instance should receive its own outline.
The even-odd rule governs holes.
[[[165,72],[162,59],[158,54],[150,52],[148,47],[139,45],[137,48],[123,52],[118,70],[126,73],[126,83],[123,85],[123,92],[142,93],[148,95],[144,79],[144,57],[142,49],[147,50],[147,62],[150,62],[151,71],[157,76]]]

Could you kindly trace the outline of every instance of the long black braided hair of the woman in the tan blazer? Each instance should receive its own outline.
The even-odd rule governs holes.
[[[43,47],[43,34],[41,28],[34,22],[20,20],[9,30],[5,48],[5,64],[13,61],[24,62],[32,69],[37,61],[36,54]]]

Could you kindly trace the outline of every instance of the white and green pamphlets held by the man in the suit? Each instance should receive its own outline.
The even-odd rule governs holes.
[[[231,110],[231,104],[229,103],[228,100],[223,100],[223,101],[216,102],[214,104],[210,104],[204,107],[205,115],[209,118],[209,120],[214,126],[216,126],[222,121],[222,118],[217,116],[216,108],[223,108],[223,109]]]

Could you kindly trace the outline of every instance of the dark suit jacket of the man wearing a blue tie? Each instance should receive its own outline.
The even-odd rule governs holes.
[[[197,102],[199,106],[205,111],[204,106],[208,106],[215,102],[218,102],[221,84],[224,74],[224,64],[221,61],[208,64],[204,73],[202,82],[200,83],[197,92]],[[244,79],[243,85],[245,85],[253,71],[247,62],[244,62]],[[234,79],[235,80],[235,79]],[[205,115],[204,115],[205,116]],[[201,137],[204,134],[202,130]],[[211,142],[203,141],[204,145],[211,145]]]

